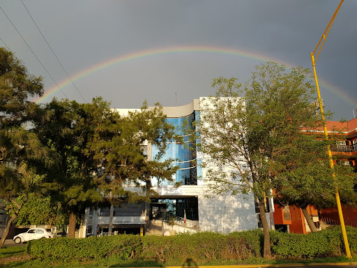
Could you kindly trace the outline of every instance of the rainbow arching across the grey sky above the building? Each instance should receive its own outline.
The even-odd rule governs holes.
[[[228,55],[232,55],[232,56],[253,59],[253,60],[261,61],[261,62],[275,61],[278,64],[282,64],[289,68],[293,67],[292,64],[281,61],[280,59],[274,59],[272,57],[267,57],[266,55],[259,54],[257,52],[251,52],[249,50],[237,50],[237,49],[231,49],[231,48],[226,48],[226,47],[213,47],[213,46],[161,47],[161,48],[155,48],[155,49],[151,49],[151,50],[141,50],[141,51],[137,51],[137,52],[132,52],[129,54],[121,55],[114,59],[102,61],[98,64],[90,66],[89,68],[81,70],[78,73],[75,73],[75,75],[71,76],[71,79],[72,79],[72,81],[79,80],[82,77],[85,77],[86,75],[90,75],[91,73],[97,72],[98,70],[102,70],[104,68],[108,68],[108,67],[114,66],[116,64],[122,64],[123,62],[126,62],[126,61],[132,61],[132,60],[141,59],[144,57],[151,57],[151,56],[155,56],[155,55],[159,55],[159,54],[179,54],[179,53],[187,53],[187,52],[228,54]],[[59,91],[60,88],[63,89],[63,87],[66,87],[68,84],[71,84],[71,83],[72,83],[71,80],[68,78],[66,80],[59,82],[58,83],[59,87],[54,86],[54,87],[51,87],[50,89],[46,89],[47,94],[45,94],[44,96],[42,96],[40,98],[37,98],[35,100],[36,103],[45,102],[48,98],[50,98],[50,96],[52,94],[54,94],[56,91]],[[329,82],[326,82],[325,80],[321,80],[321,78],[319,79],[319,84],[321,84],[322,87],[328,89],[329,91],[333,92],[334,94],[336,94],[337,96],[342,98],[347,103],[354,105],[354,107],[357,106],[357,99],[355,99],[352,96],[350,96],[349,94],[345,93],[342,89],[336,87],[335,85],[333,85]]]

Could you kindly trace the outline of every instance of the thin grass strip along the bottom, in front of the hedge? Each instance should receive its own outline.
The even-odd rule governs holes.
[[[142,260],[121,260],[118,257],[110,257],[101,260],[51,260],[51,259],[35,259],[31,255],[25,253],[26,248],[19,246],[9,246],[0,248],[0,267],[1,268],[107,268],[107,267],[167,267],[167,266],[198,266],[198,265],[268,265],[268,264],[287,264],[287,263],[309,263],[309,262],[357,262],[357,256],[352,259],[345,257],[336,258],[318,258],[318,259],[298,259],[298,260],[264,260],[263,258],[252,258],[244,261],[227,260],[225,262],[211,261],[205,263],[196,263],[193,260],[186,262],[144,262]]]

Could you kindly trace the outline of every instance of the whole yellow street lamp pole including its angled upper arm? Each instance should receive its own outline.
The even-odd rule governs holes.
[[[326,27],[326,30],[324,31],[324,34],[322,34],[319,43],[317,44],[317,47],[315,48],[314,52],[311,53],[311,61],[312,61],[312,69],[314,70],[314,78],[315,78],[315,83],[316,83],[316,90],[317,90],[317,96],[319,98],[319,105],[320,105],[320,110],[321,110],[321,119],[324,123],[324,133],[325,133],[325,139],[328,140],[328,133],[327,133],[327,128],[326,128],[326,119],[324,115],[324,108],[322,107],[322,101],[321,101],[321,95],[320,95],[320,90],[319,90],[319,82],[317,82],[317,75],[316,75],[316,69],[315,69],[315,64],[317,61],[317,57],[319,57],[319,54],[321,52],[321,48],[325,43],[325,40],[328,36],[328,32],[331,29],[331,26],[333,24],[333,21],[335,20],[335,17],[337,15],[338,10],[340,9],[340,6],[342,5],[344,0],[340,2],[340,5],[338,5],[335,13],[333,14],[333,17],[331,18],[330,22],[328,22],[328,25]],[[322,41],[323,40],[323,41]],[[322,43],[321,43],[322,41]],[[320,47],[319,52],[317,53],[316,59],[314,59],[314,54],[317,52],[317,49]],[[335,175],[335,170],[333,168],[333,159],[332,159],[332,153],[331,153],[331,148],[330,145],[327,146],[327,151],[328,151],[328,158],[330,158],[330,166],[331,170],[333,171],[333,179],[336,179]],[[338,210],[338,215],[340,216],[340,223],[341,223],[341,229],[342,229],[342,236],[344,240],[344,248],[346,248],[346,255],[347,258],[351,258],[351,251],[349,250],[349,241],[347,239],[347,233],[346,233],[346,227],[344,226],[344,219],[343,219],[343,214],[342,214],[342,207],[341,207],[341,201],[340,201],[340,194],[338,193],[338,188],[335,186],[335,196],[336,196],[336,202],[337,202],[337,210]]]

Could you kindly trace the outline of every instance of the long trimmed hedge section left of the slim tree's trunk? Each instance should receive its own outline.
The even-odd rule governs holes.
[[[259,231],[178,234],[174,237],[119,235],[86,239],[40,239],[29,241],[27,253],[39,258],[89,259],[119,255],[123,260],[185,262],[194,260],[243,260],[260,256]]]

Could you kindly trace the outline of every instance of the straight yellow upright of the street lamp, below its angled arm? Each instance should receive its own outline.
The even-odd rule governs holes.
[[[321,119],[322,119],[322,121],[324,123],[325,139],[328,140],[328,133],[327,133],[326,120],[325,120],[325,115],[324,115],[324,108],[322,107],[321,95],[320,95],[320,90],[319,90],[319,82],[317,82],[317,75],[316,75],[315,61],[314,61],[314,54],[313,53],[311,53],[311,61],[312,61],[312,69],[314,70],[314,78],[315,78],[315,84],[316,84],[316,90],[317,90],[317,97],[319,98],[319,105],[320,105],[320,110],[321,110]],[[333,176],[333,179],[336,180],[335,168],[333,168],[333,158],[332,158],[330,145],[327,146],[327,151],[328,151],[328,158],[330,159],[331,170],[333,172],[332,176]],[[337,202],[338,216],[340,216],[340,223],[341,223],[342,236],[343,236],[343,241],[344,241],[344,248],[346,248],[347,258],[352,258],[351,257],[351,251],[349,250],[349,241],[347,239],[346,227],[344,226],[344,219],[343,219],[343,214],[342,214],[340,194],[338,193],[337,186],[335,187],[335,196],[336,196],[336,202]]]

